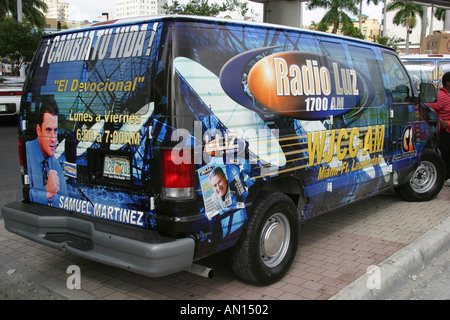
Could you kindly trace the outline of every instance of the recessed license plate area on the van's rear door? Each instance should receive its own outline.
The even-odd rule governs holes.
[[[131,186],[133,175],[130,153],[88,149],[87,160],[90,183]]]

